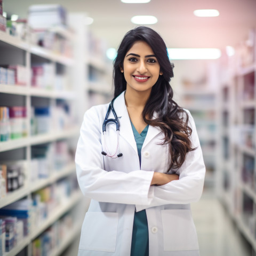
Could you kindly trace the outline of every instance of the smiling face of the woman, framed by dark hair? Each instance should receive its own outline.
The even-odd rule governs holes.
[[[123,67],[126,90],[151,91],[162,75],[153,50],[143,41],[135,42],[125,54]]]

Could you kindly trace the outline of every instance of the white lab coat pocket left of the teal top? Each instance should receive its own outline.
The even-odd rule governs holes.
[[[115,252],[118,213],[87,212],[85,214],[80,250]]]

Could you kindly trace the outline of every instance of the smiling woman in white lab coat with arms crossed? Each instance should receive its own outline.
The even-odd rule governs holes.
[[[79,186],[91,198],[78,255],[199,255],[190,203],[205,166],[193,118],[172,99],[172,69],[153,29],[124,36],[114,62],[119,137],[113,122],[103,133],[109,104],[100,105],[86,111],[77,145]]]

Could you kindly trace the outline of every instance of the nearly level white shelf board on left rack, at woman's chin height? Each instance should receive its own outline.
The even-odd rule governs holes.
[[[53,99],[76,99],[76,93],[74,91],[57,91],[57,90],[47,90],[40,89],[36,87],[28,87],[21,85],[6,85],[0,84],[0,93],[8,93],[15,95],[30,95],[33,97],[45,97]]]

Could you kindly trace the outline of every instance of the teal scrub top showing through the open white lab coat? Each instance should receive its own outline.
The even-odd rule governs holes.
[[[132,122],[131,122],[132,124]],[[141,163],[141,148],[148,132],[148,125],[139,134],[132,124],[133,135],[137,144]],[[148,256],[148,220],[146,210],[134,212],[131,256]]]

